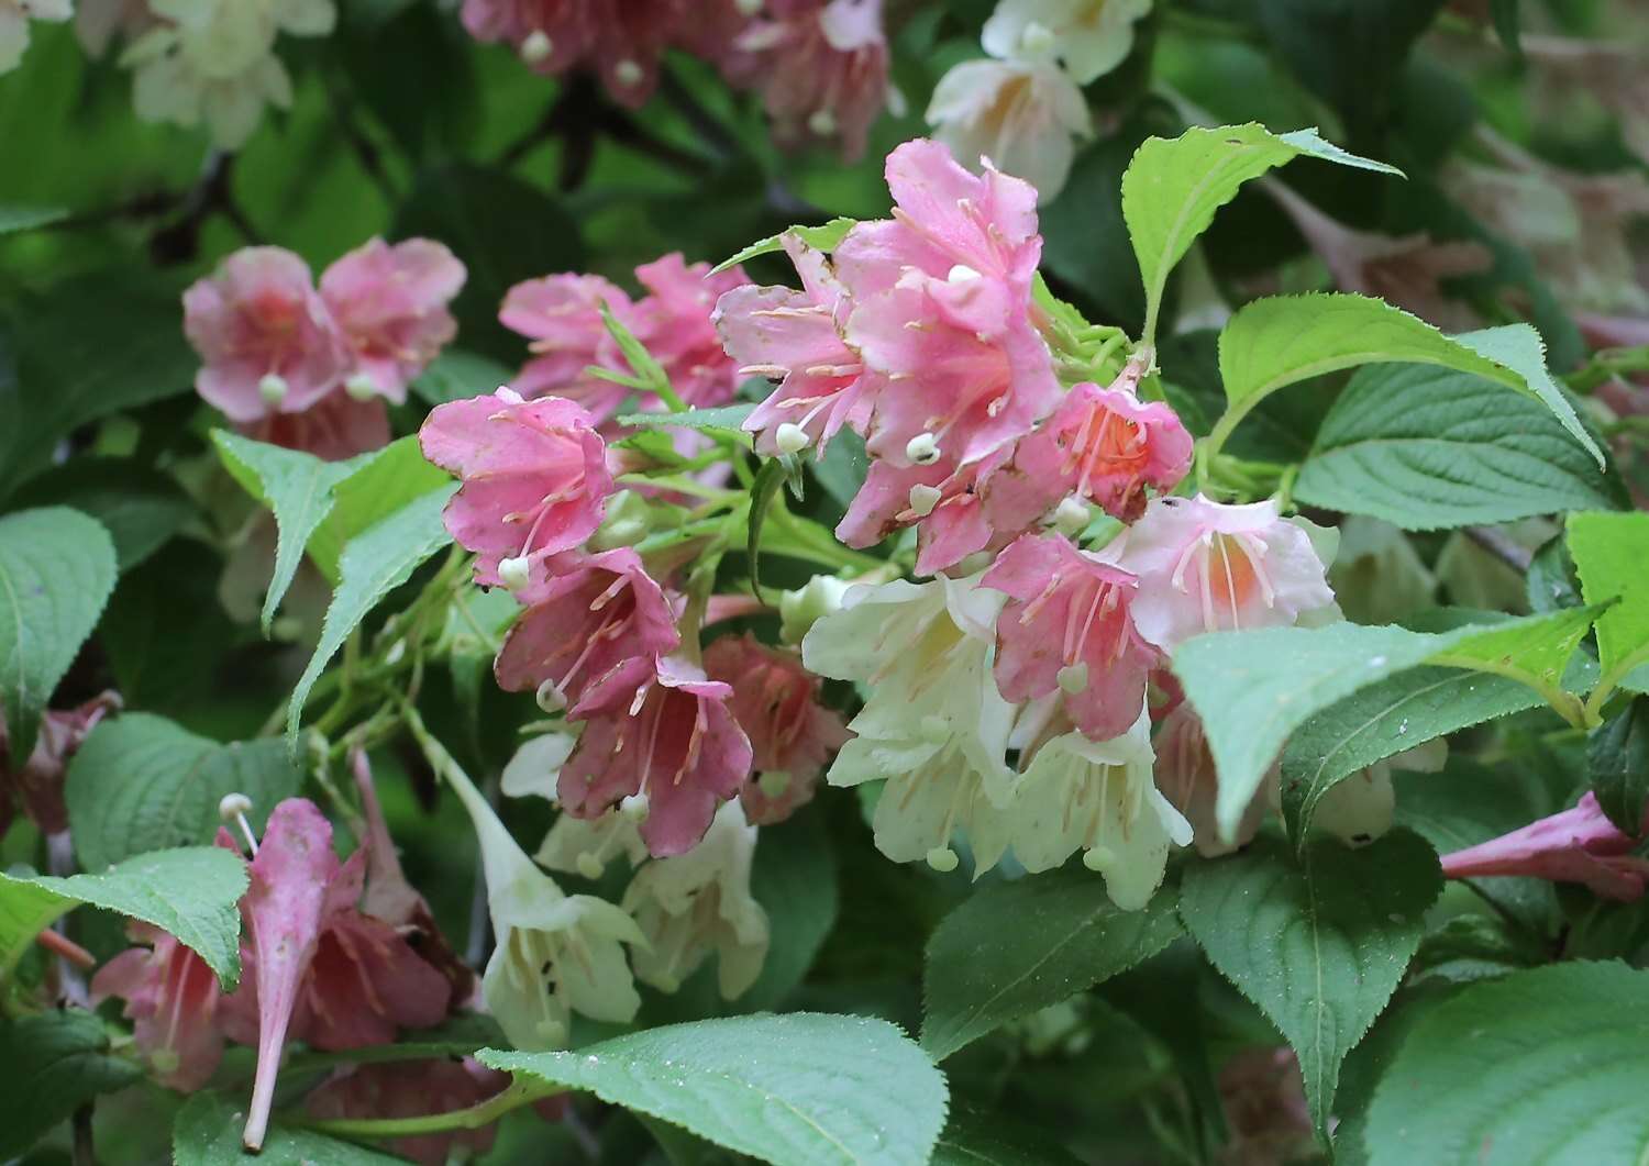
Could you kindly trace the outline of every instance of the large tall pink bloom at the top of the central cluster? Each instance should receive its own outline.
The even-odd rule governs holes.
[[[1036,190],[996,170],[970,175],[937,142],[887,158],[894,218],[861,223],[834,252],[854,297],[846,340],[890,384],[867,445],[895,465],[976,462],[1026,434],[1060,399],[1031,323],[1042,239]]]

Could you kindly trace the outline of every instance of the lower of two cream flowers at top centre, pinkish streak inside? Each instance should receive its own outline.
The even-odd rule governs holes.
[[[963,61],[933,87],[927,120],[958,162],[980,170],[989,158],[1044,203],[1064,188],[1075,140],[1093,132],[1082,91],[1050,61]]]

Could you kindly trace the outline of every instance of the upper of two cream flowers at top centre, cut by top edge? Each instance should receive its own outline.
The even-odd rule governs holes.
[[[1059,59],[1077,84],[1110,73],[1133,49],[1151,0],[999,0],[984,51],[1003,59]]]

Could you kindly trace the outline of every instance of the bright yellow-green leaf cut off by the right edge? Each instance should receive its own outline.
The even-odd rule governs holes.
[[[1606,696],[1649,661],[1649,515],[1570,515],[1568,552],[1588,604],[1619,600],[1598,617],[1598,693]]]

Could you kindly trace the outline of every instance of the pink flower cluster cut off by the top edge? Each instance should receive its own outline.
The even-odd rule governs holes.
[[[463,0],[463,26],[539,73],[592,69],[625,106],[681,48],[762,96],[780,142],[839,142],[849,158],[890,97],[882,0]]]

